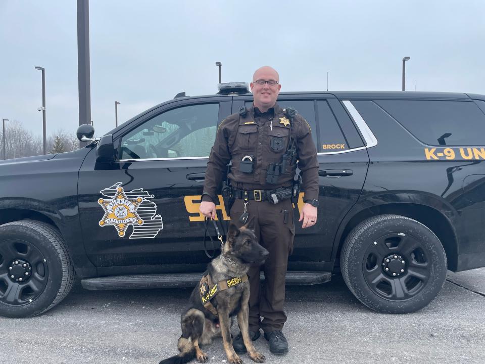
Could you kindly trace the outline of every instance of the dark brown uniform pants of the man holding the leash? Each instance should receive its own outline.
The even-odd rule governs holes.
[[[236,199],[230,216],[237,226],[242,225],[239,216],[243,211],[243,200]],[[286,211],[286,223],[283,211]],[[251,290],[249,329],[258,331],[262,328],[265,332],[281,330],[286,322],[283,310],[286,267],[295,237],[292,201],[286,199],[273,205],[268,201],[249,200],[247,212],[249,219],[255,219],[254,228],[259,243],[269,251],[263,265],[265,280],[262,289],[259,280],[261,266],[254,265],[248,272]],[[260,316],[264,317],[263,321]]]

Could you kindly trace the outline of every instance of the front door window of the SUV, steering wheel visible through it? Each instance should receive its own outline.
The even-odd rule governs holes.
[[[219,104],[182,106],[159,114],[121,139],[121,159],[208,157]]]

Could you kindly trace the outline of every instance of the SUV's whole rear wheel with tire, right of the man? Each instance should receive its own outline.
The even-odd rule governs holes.
[[[409,313],[438,295],[447,260],[440,240],[425,225],[385,214],[362,221],[350,232],[341,269],[350,291],[370,309]]]

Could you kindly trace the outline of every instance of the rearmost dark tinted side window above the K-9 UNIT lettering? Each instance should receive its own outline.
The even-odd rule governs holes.
[[[485,114],[470,101],[374,100],[429,145],[484,145]]]

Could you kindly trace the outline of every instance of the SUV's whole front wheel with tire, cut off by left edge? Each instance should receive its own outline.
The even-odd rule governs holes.
[[[67,296],[74,277],[54,226],[35,220],[0,225],[0,315],[29,317],[51,309]]]

